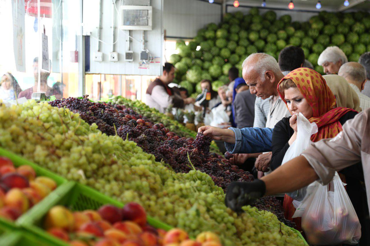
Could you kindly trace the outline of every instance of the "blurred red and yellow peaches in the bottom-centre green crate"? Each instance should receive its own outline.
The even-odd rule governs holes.
[[[46,214],[44,229],[73,246],[221,246],[212,232],[192,240],[182,229],[155,229],[148,225],[144,208],[135,202],[123,208],[108,204],[97,211],[77,212],[57,205]]]

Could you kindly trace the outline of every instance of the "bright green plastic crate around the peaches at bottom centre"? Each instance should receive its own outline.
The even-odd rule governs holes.
[[[63,189],[54,192],[53,196],[47,197],[32,209],[30,209],[30,216],[24,217],[19,221],[19,225],[34,233],[40,238],[47,240],[53,245],[67,245],[65,242],[49,235],[44,229],[42,229],[42,224],[44,221],[44,216],[46,213],[55,205],[64,205],[72,211],[81,211],[85,209],[98,209],[104,204],[112,204],[119,208],[124,205],[114,199],[107,197],[100,192],[75,183],[73,181],[63,184]],[[172,227],[157,221],[150,216],[148,216],[148,223],[155,228],[161,228],[164,230],[169,230]]]

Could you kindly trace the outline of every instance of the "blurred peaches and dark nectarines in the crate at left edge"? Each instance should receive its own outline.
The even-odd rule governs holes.
[[[29,165],[16,168],[11,160],[0,157],[0,217],[16,220],[56,187],[51,178],[36,177]]]

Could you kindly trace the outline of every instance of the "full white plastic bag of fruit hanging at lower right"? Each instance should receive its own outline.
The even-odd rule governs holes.
[[[302,229],[307,242],[312,245],[356,244],[361,237],[360,221],[338,173],[330,186],[315,182],[313,187],[296,210],[296,213],[303,213]]]

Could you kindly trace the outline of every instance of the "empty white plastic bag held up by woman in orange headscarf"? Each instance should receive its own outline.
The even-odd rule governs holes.
[[[293,158],[300,156],[302,152],[312,143],[311,135],[317,133],[316,123],[310,123],[302,113],[297,115],[297,138],[288,148],[282,161],[282,165]],[[303,187],[297,191],[289,192],[289,197],[302,201],[306,195],[307,187]]]

